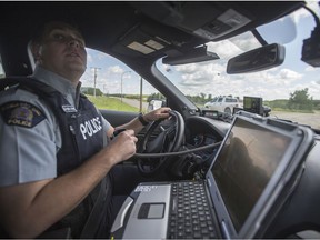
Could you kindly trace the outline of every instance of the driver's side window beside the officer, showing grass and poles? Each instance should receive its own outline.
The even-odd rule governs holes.
[[[159,91],[136,71],[103,52],[88,49],[81,91],[98,109],[147,112]]]

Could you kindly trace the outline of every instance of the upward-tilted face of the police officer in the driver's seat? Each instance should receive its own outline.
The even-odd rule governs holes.
[[[39,64],[72,82],[86,71],[84,40],[74,30],[53,29],[43,38],[38,53]]]

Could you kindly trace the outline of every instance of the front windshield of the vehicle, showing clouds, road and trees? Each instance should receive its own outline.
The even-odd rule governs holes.
[[[319,7],[313,3],[311,7],[319,14]],[[320,69],[301,61],[303,40],[310,38],[314,27],[316,21],[306,9],[259,27],[257,30],[268,43],[286,47],[284,62],[269,70],[226,72],[230,58],[261,47],[251,32],[209,42],[208,50],[216,52],[218,60],[181,66],[167,66],[159,60],[157,67],[200,109],[227,112],[227,102],[217,107],[212,99],[233,97],[240,101],[240,106],[233,107],[242,107],[243,97],[257,97],[262,99],[263,110],[270,116],[320,129]],[[229,107],[229,112],[233,107]]]

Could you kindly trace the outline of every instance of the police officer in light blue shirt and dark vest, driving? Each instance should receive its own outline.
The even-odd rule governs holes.
[[[31,50],[34,73],[0,92],[0,223],[16,238],[34,238],[83,207],[111,168],[134,154],[143,124],[170,111],[113,128],[80,94],[87,52],[72,26],[46,24]],[[117,129],[127,130],[110,140]],[[86,207],[78,212],[90,213]],[[70,222],[77,232],[80,223]]]

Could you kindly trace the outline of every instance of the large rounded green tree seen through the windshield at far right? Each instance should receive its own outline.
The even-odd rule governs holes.
[[[290,93],[288,101],[288,108],[292,110],[313,110],[312,97],[309,97],[308,88],[302,90],[296,90],[293,93]]]

